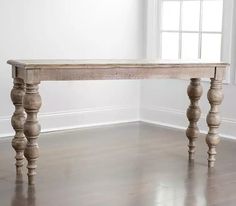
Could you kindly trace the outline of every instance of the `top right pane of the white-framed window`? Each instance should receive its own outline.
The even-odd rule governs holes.
[[[221,31],[223,0],[203,1],[203,31]]]

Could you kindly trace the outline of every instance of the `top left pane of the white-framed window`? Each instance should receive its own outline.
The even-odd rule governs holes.
[[[162,29],[179,30],[180,2],[166,1],[163,2],[162,9]]]

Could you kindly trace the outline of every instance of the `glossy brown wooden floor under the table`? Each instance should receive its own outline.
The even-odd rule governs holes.
[[[236,141],[207,168],[204,136],[188,163],[183,131],[129,123],[41,135],[36,186],[0,143],[0,206],[235,206]]]

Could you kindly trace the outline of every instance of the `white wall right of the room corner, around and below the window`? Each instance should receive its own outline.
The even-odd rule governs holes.
[[[231,83],[224,85],[225,99],[221,107],[222,125],[221,132],[225,137],[236,138],[236,4],[234,4],[233,42],[231,62]],[[186,108],[189,105],[186,93],[189,82],[184,80],[143,80],[141,82],[141,119],[148,122],[186,128]],[[200,129],[207,131],[205,117],[209,110],[207,91],[209,82],[203,83],[204,95],[200,106],[202,118]]]

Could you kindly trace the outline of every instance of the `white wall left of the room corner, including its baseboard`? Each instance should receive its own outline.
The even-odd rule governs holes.
[[[142,0],[1,0],[0,136],[13,133],[8,59],[143,58]],[[138,120],[139,81],[42,82],[43,130]]]

